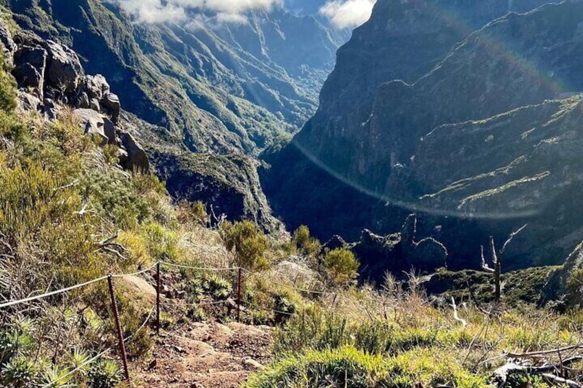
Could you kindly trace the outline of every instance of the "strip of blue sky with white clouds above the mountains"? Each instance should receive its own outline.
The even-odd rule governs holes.
[[[188,22],[187,10],[216,13],[214,22],[244,23],[246,12],[284,5],[304,13],[319,13],[338,29],[358,27],[371,16],[376,0],[108,0],[144,23]]]

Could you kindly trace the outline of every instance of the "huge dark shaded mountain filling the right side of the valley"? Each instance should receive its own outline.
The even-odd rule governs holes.
[[[583,90],[583,7],[541,4],[379,1],[339,50],[316,115],[265,154],[276,213],[355,239],[417,212],[453,267],[478,266],[485,237],[529,223],[507,269],[563,260],[583,238],[569,152],[579,102],[545,101]],[[537,9],[503,16],[509,6]]]

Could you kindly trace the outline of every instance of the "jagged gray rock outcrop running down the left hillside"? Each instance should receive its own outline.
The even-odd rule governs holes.
[[[8,60],[14,64],[19,111],[36,111],[55,121],[64,106],[72,106],[86,135],[98,138],[102,146],[120,148],[122,167],[140,172],[150,170],[144,148],[124,129],[131,124],[120,122],[120,99],[111,93],[104,76],[85,76],[78,55],[60,43],[45,41],[25,30],[12,39],[1,22],[0,41]],[[132,130],[137,131],[133,126]]]

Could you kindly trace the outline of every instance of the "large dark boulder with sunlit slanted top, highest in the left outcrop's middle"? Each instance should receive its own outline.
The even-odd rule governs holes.
[[[83,80],[83,67],[77,54],[69,47],[46,41],[48,52],[46,80],[50,86],[65,93],[74,93]]]

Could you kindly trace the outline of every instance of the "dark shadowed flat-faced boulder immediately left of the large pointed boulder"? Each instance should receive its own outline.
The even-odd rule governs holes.
[[[22,46],[14,53],[14,70],[19,87],[32,88],[43,98],[47,52],[42,47]]]

